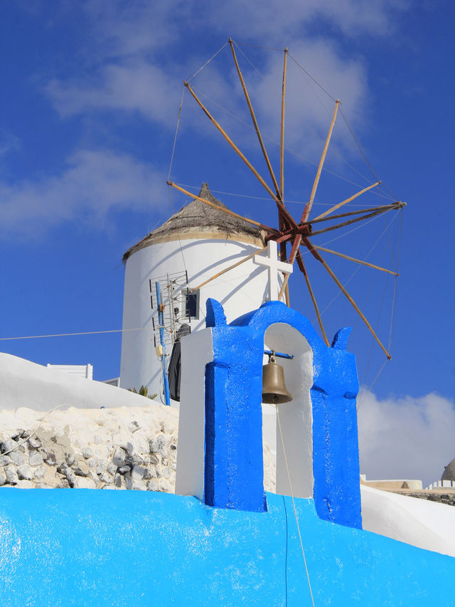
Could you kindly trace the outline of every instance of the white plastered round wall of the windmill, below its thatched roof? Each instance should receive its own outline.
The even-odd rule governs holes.
[[[161,365],[154,349],[149,280],[166,274],[188,271],[190,287],[197,287],[215,273],[254,252],[257,246],[230,240],[188,239],[156,243],[133,253],[127,260],[124,282],[123,329],[144,328],[122,334],[120,386],[147,386],[149,394],[161,394]],[[257,309],[264,302],[267,269],[252,259],[200,289],[199,319],[191,321],[191,331],[205,327],[205,301],[218,300],[228,322]],[[170,352],[168,352],[170,354]],[[159,396],[158,396],[159,399]]]

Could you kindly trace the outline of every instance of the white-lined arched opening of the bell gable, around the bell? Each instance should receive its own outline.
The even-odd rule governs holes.
[[[284,381],[292,395],[289,403],[278,405],[279,424],[275,406],[262,403],[264,487],[281,495],[291,495],[292,487],[296,497],[313,497],[313,415],[310,396],[313,351],[299,331],[282,322],[268,327],[264,334],[264,349],[293,356],[292,359],[277,359],[283,366]],[[268,357],[264,355],[264,364],[267,361]]]

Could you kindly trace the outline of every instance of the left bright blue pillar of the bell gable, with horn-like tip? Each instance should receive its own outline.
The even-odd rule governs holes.
[[[214,360],[205,368],[205,503],[264,512],[263,337],[228,327],[218,302],[207,307]]]

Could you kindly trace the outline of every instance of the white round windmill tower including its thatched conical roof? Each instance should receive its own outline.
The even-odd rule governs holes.
[[[264,232],[259,223],[229,213],[203,184],[193,201],[124,254],[123,388],[146,386],[149,395],[162,397],[168,359],[160,355],[159,329],[170,354],[183,325],[187,332],[205,327],[208,297],[223,304],[228,322],[269,298],[268,273],[254,258],[265,249]],[[164,305],[161,322],[156,283]]]

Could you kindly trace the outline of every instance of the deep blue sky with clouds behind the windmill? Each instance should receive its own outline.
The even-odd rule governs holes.
[[[393,358],[375,382],[372,398],[388,399],[400,413],[411,403],[410,427],[423,419],[423,430],[437,433],[422,398],[437,393],[452,411],[454,18],[450,1],[4,0],[2,337],[122,326],[122,254],[171,214],[166,179],[182,81],[232,36],[251,62],[239,51],[259,124],[276,140],[282,53],[257,47],[287,46],[333,97],[341,98],[376,173],[394,199],[408,203],[402,214]],[[248,121],[235,78],[225,48],[192,83],[229,110],[210,106],[259,167],[251,131],[232,118]],[[333,102],[293,61],[287,109],[287,145],[305,158],[285,155],[285,197],[299,218]],[[213,191],[253,196],[216,194],[237,212],[276,223],[273,204],[262,199],[254,177],[207,122],[186,95],[173,180],[194,188],[208,181]],[[277,146],[267,146],[277,167]],[[326,168],[343,179],[323,173],[316,197],[321,206],[315,206],[319,212],[324,204],[326,209],[355,193],[358,185],[374,181],[343,120],[336,122]],[[388,190],[382,192],[382,197],[365,194],[361,202],[384,204]],[[186,203],[178,194],[173,200],[177,207]],[[392,216],[385,219],[388,223]],[[399,221],[397,217],[368,260],[391,267],[389,241],[395,242]],[[380,218],[332,246],[363,258],[384,229]],[[396,255],[395,249],[395,260]],[[343,260],[327,260],[343,282],[355,270]],[[324,309],[336,290],[317,264],[309,262],[309,272]],[[291,278],[291,302],[314,320],[298,274]],[[388,342],[393,285],[378,274],[362,269],[348,288]],[[342,295],[323,319],[328,334],[353,325],[350,349],[358,357],[360,381],[370,385],[382,353],[378,347],[372,350],[368,332]],[[107,379],[119,373],[120,343],[119,334],[100,334],[3,341],[1,349],[41,364],[90,362],[95,378]],[[449,447],[440,458],[446,453]]]

